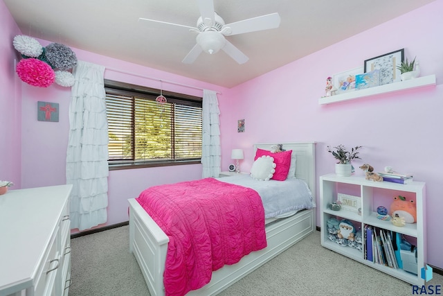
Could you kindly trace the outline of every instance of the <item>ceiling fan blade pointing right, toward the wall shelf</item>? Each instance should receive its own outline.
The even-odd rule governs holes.
[[[271,13],[271,15],[262,15],[261,17],[253,17],[252,19],[226,24],[221,28],[221,32],[224,35],[230,36],[278,28],[278,26],[280,26],[280,15],[275,12]]]

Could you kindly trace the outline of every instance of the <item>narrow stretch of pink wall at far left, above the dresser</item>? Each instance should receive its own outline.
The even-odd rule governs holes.
[[[0,1],[0,180],[20,188],[21,88],[15,74],[18,62],[12,40],[20,31],[5,3]]]

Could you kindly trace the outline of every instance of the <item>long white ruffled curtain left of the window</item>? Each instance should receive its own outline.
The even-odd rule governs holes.
[[[78,61],[69,105],[66,184],[71,192],[71,228],[89,229],[107,221],[108,127],[105,67]]]

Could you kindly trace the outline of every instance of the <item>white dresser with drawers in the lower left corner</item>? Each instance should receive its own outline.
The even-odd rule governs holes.
[[[0,195],[0,296],[68,295],[72,185]]]

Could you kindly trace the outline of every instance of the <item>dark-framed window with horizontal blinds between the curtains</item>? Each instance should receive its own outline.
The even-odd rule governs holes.
[[[105,80],[109,168],[199,163],[201,98]]]

